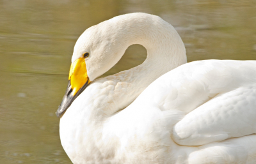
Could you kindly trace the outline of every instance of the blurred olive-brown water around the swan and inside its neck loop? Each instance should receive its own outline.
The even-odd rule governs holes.
[[[256,60],[256,1],[0,0],[0,163],[71,163],[55,112],[83,31],[116,15],[159,15],[180,34],[188,61]],[[103,76],[143,63],[132,45]]]

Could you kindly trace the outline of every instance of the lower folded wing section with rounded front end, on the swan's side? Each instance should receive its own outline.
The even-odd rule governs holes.
[[[173,128],[180,145],[209,142],[256,133],[256,86],[220,93],[187,114]]]

